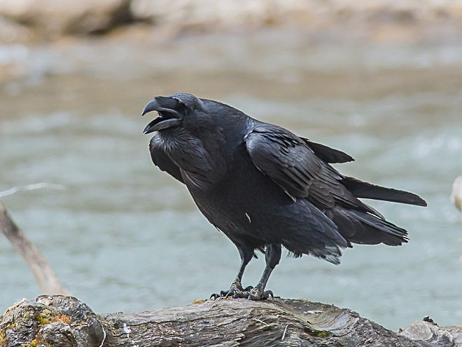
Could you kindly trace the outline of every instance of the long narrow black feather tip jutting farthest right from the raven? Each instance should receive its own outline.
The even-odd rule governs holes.
[[[367,182],[360,181],[353,177],[344,177],[342,184],[353,193],[356,198],[367,198],[374,200],[392,201],[393,203],[407,203],[409,205],[426,206],[427,203],[420,196],[400,191],[398,189],[376,186]]]

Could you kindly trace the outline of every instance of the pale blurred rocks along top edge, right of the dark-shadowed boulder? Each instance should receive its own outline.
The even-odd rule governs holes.
[[[181,29],[302,25],[314,29],[352,20],[356,24],[460,20],[461,0],[132,0],[134,18]]]

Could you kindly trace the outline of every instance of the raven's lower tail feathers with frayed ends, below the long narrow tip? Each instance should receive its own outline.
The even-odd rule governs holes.
[[[351,243],[398,246],[407,243],[407,231],[367,212],[334,207],[325,214],[337,224],[339,233]]]

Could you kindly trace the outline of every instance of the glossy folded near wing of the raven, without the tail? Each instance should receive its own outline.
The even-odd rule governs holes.
[[[246,136],[246,148],[253,164],[291,196],[307,198],[318,208],[342,203],[374,213],[342,185],[342,175],[288,130],[259,125]]]

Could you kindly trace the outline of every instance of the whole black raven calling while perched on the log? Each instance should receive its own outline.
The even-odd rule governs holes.
[[[347,177],[330,163],[348,154],[263,123],[221,102],[180,93],[158,96],[143,115],[159,116],[144,129],[155,132],[149,149],[156,166],[190,191],[202,214],[223,231],[241,256],[229,290],[211,297],[267,299],[269,275],[281,246],[295,257],[309,254],[339,264],[351,243],[401,245],[407,231],[358,198],[426,206],[413,193]],[[242,287],[255,251],[265,253],[265,271],[255,287]]]

